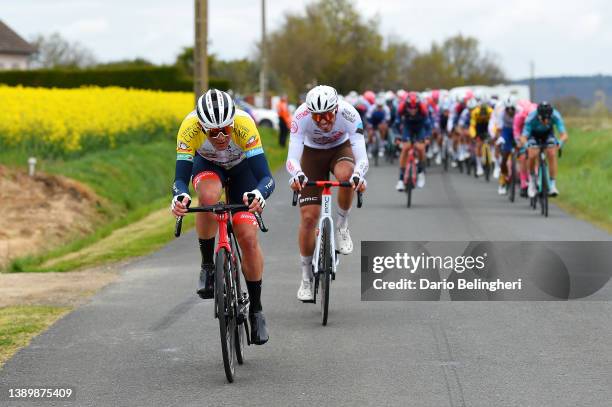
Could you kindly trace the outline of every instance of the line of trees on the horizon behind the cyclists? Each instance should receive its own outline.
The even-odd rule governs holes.
[[[105,68],[152,65],[141,58],[99,64],[78,43],[59,35],[39,36],[35,42],[39,67]],[[292,98],[317,83],[339,92],[364,89],[451,88],[491,85],[506,77],[494,54],[481,50],[476,38],[457,34],[429,49],[418,50],[398,37],[385,38],[377,17],[366,19],[349,0],[318,0],[304,11],[287,13],[266,41],[268,88]],[[262,44],[250,57],[226,61],[209,55],[209,74],[231,83],[241,94],[259,89]],[[174,65],[193,73],[193,47],[185,47]]]

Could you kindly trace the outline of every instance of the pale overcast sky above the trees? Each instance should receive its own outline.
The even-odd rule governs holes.
[[[267,0],[268,30],[311,0]],[[59,32],[100,61],[144,57],[171,63],[193,43],[193,0],[0,0],[0,19],[26,39]],[[379,15],[383,34],[426,49],[459,32],[477,37],[513,79],[612,74],[612,2],[607,0],[355,0]],[[210,52],[249,56],[261,32],[260,0],[209,0]]]

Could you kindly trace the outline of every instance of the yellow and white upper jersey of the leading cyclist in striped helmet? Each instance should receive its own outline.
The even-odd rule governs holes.
[[[176,139],[176,159],[193,161],[199,155],[226,170],[246,158],[263,154],[263,147],[255,122],[243,110],[236,109],[234,128],[227,149],[216,150],[202,130],[195,110],[185,117]]]

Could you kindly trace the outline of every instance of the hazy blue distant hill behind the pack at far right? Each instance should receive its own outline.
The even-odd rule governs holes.
[[[513,83],[529,85],[529,79],[514,81]],[[535,101],[555,100],[575,96],[585,106],[592,105],[595,92],[603,91],[606,105],[612,108],[612,76],[559,76],[554,78],[535,79]]]

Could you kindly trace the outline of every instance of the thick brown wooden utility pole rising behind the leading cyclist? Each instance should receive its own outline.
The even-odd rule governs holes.
[[[196,101],[208,89],[208,0],[195,0],[193,92]]]

